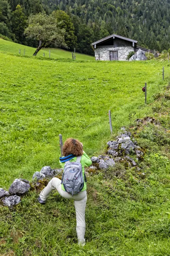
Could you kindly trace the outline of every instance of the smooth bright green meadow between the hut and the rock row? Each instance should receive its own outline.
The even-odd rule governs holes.
[[[147,113],[142,86],[147,81],[150,102],[164,84],[161,67],[161,62],[57,62],[1,53],[0,186],[8,188],[19,176],[30,179],[45,165],[59,167],[59,133],[64,140],[79,138],[90,155],[101,150],[110,136],[108,110],[115,132],[129,123],[129,114]]]

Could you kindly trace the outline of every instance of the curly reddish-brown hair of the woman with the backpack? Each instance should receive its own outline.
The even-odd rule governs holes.
[[[82,156],[82,144],[79,140],[69,138],[65,141],[62,149],[63,156],[68,156],[69,154],[74,154],[75,156]]]

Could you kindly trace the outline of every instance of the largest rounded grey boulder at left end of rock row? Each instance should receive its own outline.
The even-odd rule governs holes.
[[[9,188],[11,195],[23,195],[30,189],[29,181],[22,179],[15,179]]]

